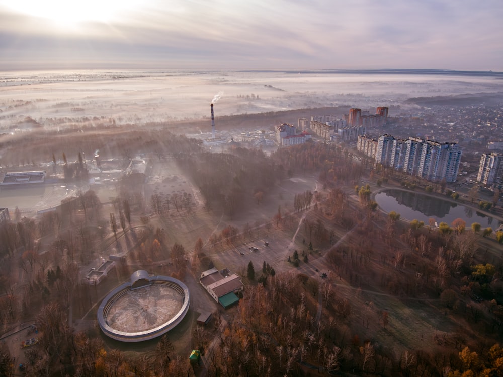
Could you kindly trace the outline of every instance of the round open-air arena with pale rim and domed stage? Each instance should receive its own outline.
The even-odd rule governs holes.
[[[141,342],[173,329],[189,306],[189,289],[180,280],[139,270],[105,297],[98,308],[98,322],[112,339]]]

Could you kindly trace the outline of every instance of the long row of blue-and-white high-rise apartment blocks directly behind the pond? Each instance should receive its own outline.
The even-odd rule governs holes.
[[[377,164],[429,181],[446,182],[456,181],[462,154],[456,142],[440,143],[418,137],[403,140],[392,135],[379,135],[377,140],[359,136],[357,149]]]

